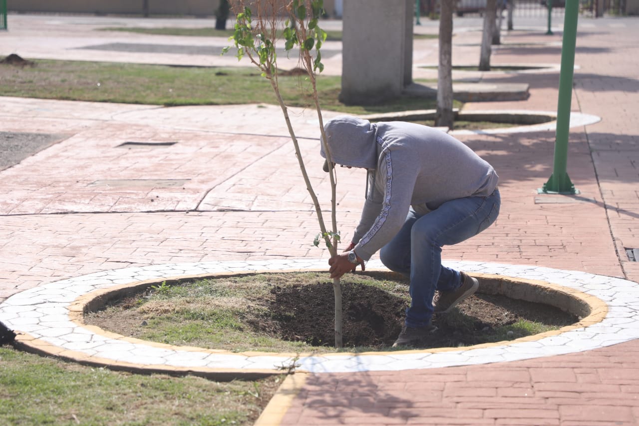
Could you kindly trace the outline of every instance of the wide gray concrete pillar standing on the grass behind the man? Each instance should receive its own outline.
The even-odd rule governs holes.
[[[414,0],[344,1],[345,104],[377,104],[411,83]]]

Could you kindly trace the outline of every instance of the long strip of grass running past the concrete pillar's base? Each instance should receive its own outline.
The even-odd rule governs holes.
[[[0,65],[0,96],[164,106],[277,103],[270,83],[254,68],[34,62],[35,67]],[[312,105],[310,84],[304,78],[282,75],[279,84],[288,106]],[[435,99],[401,97],[379,106],[346,106],[337,99],[341,77],[332,75],[318,76],[318,91],[324,109],[350,114],[431,109],[436,105]]]

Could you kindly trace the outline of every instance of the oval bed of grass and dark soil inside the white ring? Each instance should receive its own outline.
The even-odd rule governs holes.
[[[333,288],[325,272],[239,274],[120,288],[85,306],[84,321],[123,336],[231,352],[335,352]],[[408,306],[391,272],[343,278],[344,349],[390,351]],[[587,303],[557,288],[480,277],[480,288],[436,315],[425,349],[514,340],[571,326]]]

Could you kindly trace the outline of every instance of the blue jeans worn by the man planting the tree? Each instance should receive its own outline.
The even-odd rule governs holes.
[[[459,271],[442,266],[442,246],[458,244],[488,228],[497,219],[500,204],[495,189],[487,197],[447,201],[424,215],[410,209],[401,230],[380,250],[387,268],[410,277],[412,301],[406,309],[406,326],[429,324],[435,290],[450,292],[461,285]]]

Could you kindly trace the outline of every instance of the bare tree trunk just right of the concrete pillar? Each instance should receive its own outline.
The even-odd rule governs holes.
[[[435,125],[452,129],[452,11],[453,1],[442,1],[439,28],[439,67]]]

